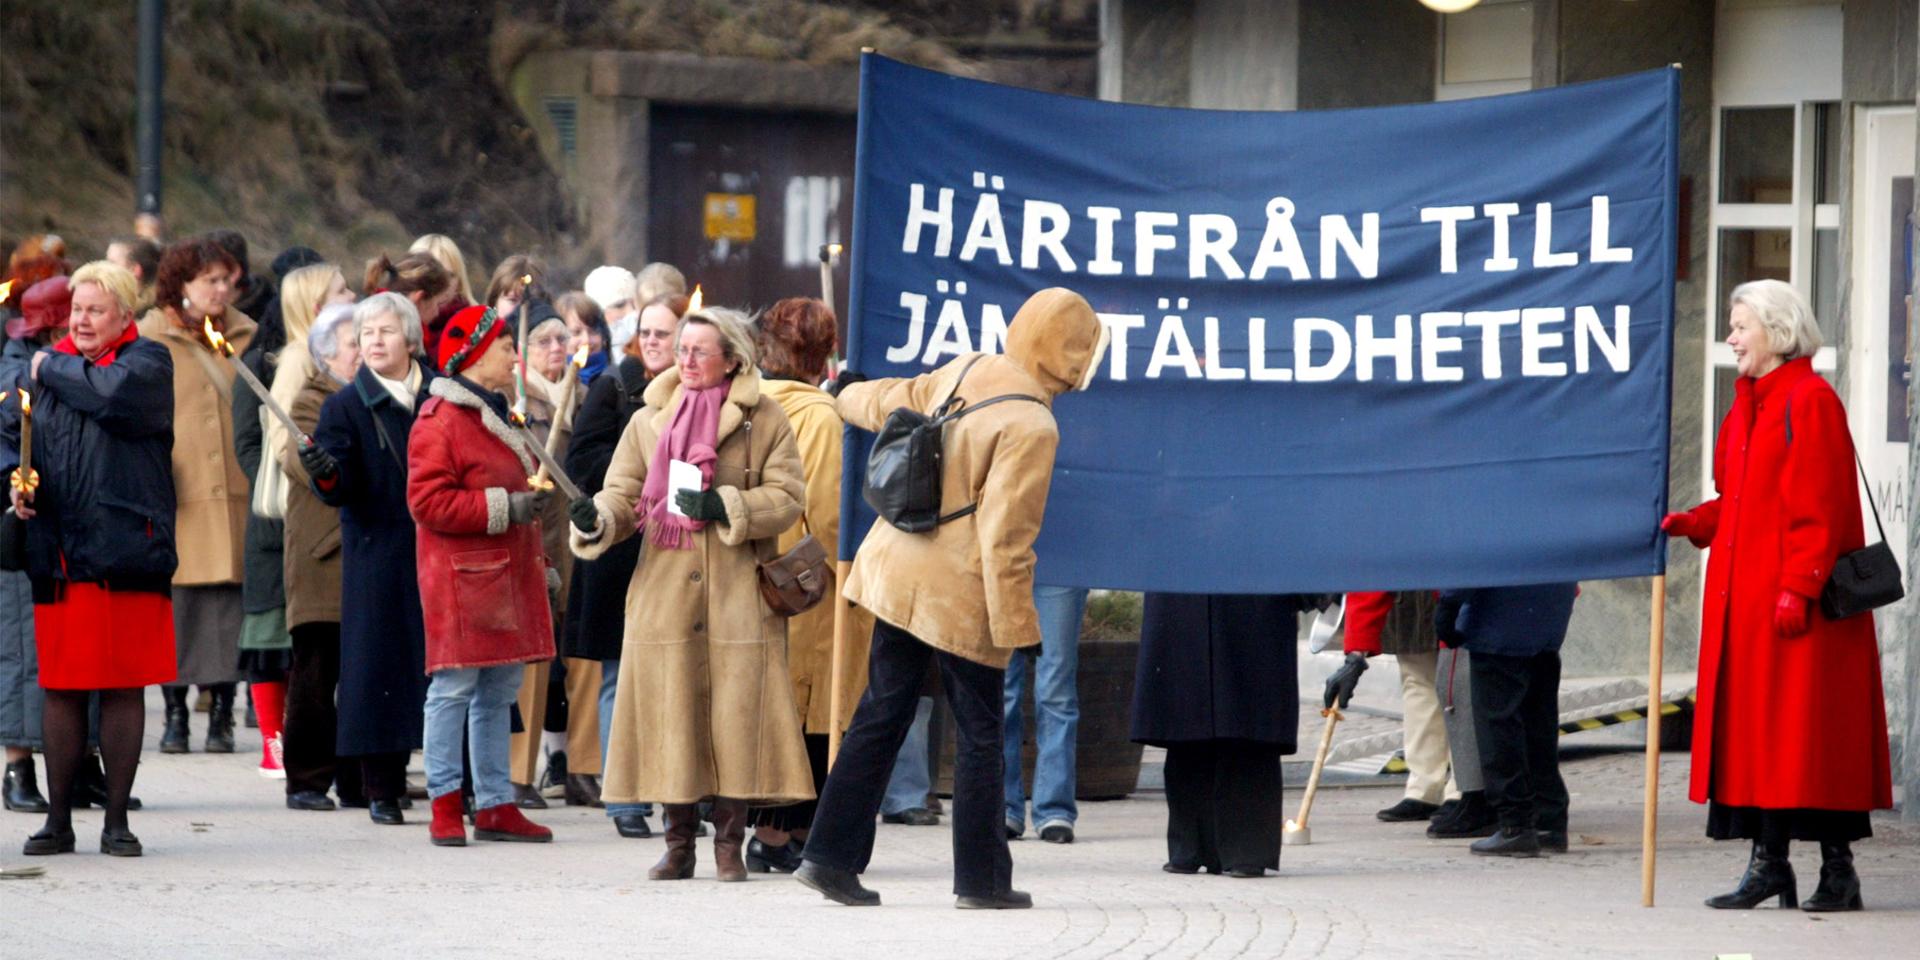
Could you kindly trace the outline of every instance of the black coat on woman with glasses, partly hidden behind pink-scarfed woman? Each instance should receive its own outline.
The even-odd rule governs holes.
[[[566,447],[564,465],[566,476],[580,484],[582,493],[591,497],[607,484],[612,447],[626,432],[626,420],[645,405],[641,399],[645,392],[647,369],[634,357],[624,357],[588,388],[588,397],[574,415],[574,440]],[[626,636],[626,589],[634,582],[634,568],[639,566],[641,540],[645,538],[626,538],[597,561],[574,563],[574,588],[566,597],[566,624],[561,636],[563,655],[586,660],[620,657],[620,639]]]

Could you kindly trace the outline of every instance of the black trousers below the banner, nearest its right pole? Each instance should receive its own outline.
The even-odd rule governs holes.
[[[1473,651],[1473,739],[1501,829],[1567,829],[1559,776],[1559,651]]]

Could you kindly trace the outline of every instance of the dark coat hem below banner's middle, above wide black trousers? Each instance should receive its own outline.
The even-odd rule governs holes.
[[[1133,682],[1133,739],[1244,741],[1294,753],[1296,595],[1148,593]]]

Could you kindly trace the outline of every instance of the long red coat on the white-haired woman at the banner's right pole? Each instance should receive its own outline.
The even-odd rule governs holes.
[[[1828,620],[1818,603],[1834,561],[1866,543],[1853,472],[1847,411],[1809,359],[1734,384],[1713,457],[1720,495],[1692,511],[1711,540],[1695,803],[1893,806],[1874,618]],[[1782,589],[1809,597],[1805,636],[1774,634]]]

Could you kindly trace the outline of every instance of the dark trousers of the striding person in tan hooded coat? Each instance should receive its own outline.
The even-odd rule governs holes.
[[[991,897],[1012,889],[1014,858],[1000,826],[1000,703],[1004,670],[927,647],[912,634],[876,620],[866,695],[841,739],[839,758],[820,791],[806,837],[806,860],[864,872],[874,854],[874,816],[887,793],[893,758],[906,741],[920,705],[920,682],[937,664],[958,728],[954,751],[954,893]]]

